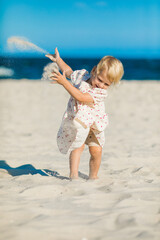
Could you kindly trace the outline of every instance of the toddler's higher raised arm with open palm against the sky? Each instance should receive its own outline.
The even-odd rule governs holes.
[[[60,68],[61,72],[66,73],[66,77],[70,78],[71,74],[73,72],[72,68],[70,66],[68,66],[63,59],[60,57],[58,49],[55,49],[55,54],[47,54],[46,57],[48,57],[49,59],[51,59],[53,62],[56,62],[58,67]]]

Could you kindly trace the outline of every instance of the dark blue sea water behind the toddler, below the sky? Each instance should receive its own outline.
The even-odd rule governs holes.
[[[64,61],[73,70],[87,69],[97,65],[98,58],[64,58]],[[124,65],[127,80],[160,80],[160,59],[120,59]],[[44,66],[51,62],[48,58],[8,58],[0,57],[0,79],[4,78],[28,78],[40,79]],[[12,69],[13,74],[7,69]]]

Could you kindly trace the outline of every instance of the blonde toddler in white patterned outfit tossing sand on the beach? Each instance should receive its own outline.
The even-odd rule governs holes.
[[[109,86],[122,78],[123,65],[118,59],[105,56],[89,74],[85,69],[73,71],[62,60],[57,48],[54,55],[47,54],[46,57],[54,61],[63,73],[54,71],[52,83],[62,85],[71,95],[57,134],[60,152],[70,152],[70,178],[78,178],[80,156],[86,144],[91,155],[89,179],[97,179],[105,143],[104,129],[108,125],[104,100]]]

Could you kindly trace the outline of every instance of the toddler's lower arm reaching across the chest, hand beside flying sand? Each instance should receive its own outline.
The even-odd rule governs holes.
[[[63,75],[58,73],[53,73],[53,76],[51,77],[52,80],[54,80],[59,84],[61,84],[67,92],[75,98],[79,102],[86,102],[86,103],[94,103],[93,98],[89,93],[82,93],[80,90],[75,88],[69,81],[67,81],[65,77],[65,72],[63,72]]]

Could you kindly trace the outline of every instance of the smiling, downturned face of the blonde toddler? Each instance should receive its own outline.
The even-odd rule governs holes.
[[[106,79],[106,71],[102,71],[99,74],[94,73],[93,75],[91,75],[90,83],[93,88],[102,89],[107,89],[111,85],[111,82]]]

